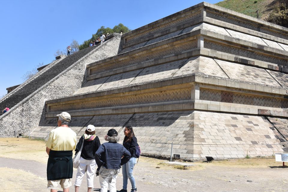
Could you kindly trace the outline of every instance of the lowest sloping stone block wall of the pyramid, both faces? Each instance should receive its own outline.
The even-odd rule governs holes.
[[[111,128],[118,131],[122,143],[124,127],[130,125],[145,154],[169,156],[172,142],[173,154],[181,158],[244,158],[287,151],[281,144],[287,141],[287,130],[283,128],[287,119],[194,110],[72,116],[71,119],[69,127],[78,139],[91,124],[96,127],[101,143],[106,142],[104,136]],[[55,117],[46,118],[32,135],[41,137],[37,131],[49,132],[56,123]],[[45,132],[43,138],[46,137]]]

